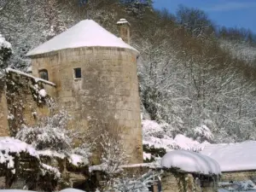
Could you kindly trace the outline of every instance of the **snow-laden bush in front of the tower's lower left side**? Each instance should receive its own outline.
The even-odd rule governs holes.
[[[49,102],[52,105],[52,102]],[[31,144],[37,150],[49,151],[51,154],[63,154],[68,160],[73,160],[73,154],[77,154],[81,164],[88,164],[91,155],[91,145],[82,140],[81,143],[74,143],[79,131],[67,129],[68,121],[71,119],[70,115],[63,108],[56,110],[53,104],[51,107],[51,114],[42,119],[38,119],[38,125],[33,127],[23,125],[20,131],[17,132],[16,138],[21,141]],[[57,111],[57,113],[56,113]],[[79,132],[79,133],[78,133]],[[47,153],[46,153],[47,154]],[[76,164],[76,163],[75,163]]]

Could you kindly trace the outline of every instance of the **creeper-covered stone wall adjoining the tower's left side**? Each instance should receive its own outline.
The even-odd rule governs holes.
[[[20,73],[9,72],[6,77],[5,98],[8,115],[9,135],[15,137],[21,125],[36,125],[38,119],[49,114],[49,108],[45,105],[46,98],[40,98],[37,90],[46,90],[49,96],[55,97],[53,85],[36,82],[35,79]],[[7,114],[8,113],[8,114]]]

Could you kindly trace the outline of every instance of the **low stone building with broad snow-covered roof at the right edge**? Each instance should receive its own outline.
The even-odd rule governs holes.
[[[209,144],[201,151],[216,160],[222,182],[256,181],[256,142]]]

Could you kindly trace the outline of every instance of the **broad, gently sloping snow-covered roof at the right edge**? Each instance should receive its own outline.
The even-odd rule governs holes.
[[[209,144],[201,151],[218,161],[222,172],[256,170],[256,142]]]

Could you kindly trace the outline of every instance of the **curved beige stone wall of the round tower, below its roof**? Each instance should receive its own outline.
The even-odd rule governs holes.
[[[82,78],[74,79],[80,67]],[[49,72],[58,102],[73,116],[71,128],[119,132],[130,163],[143,162],[137,52],[121,48],[66,49],[32,58],[32,74]],[[99,149],[97,149],[99,150]]]

